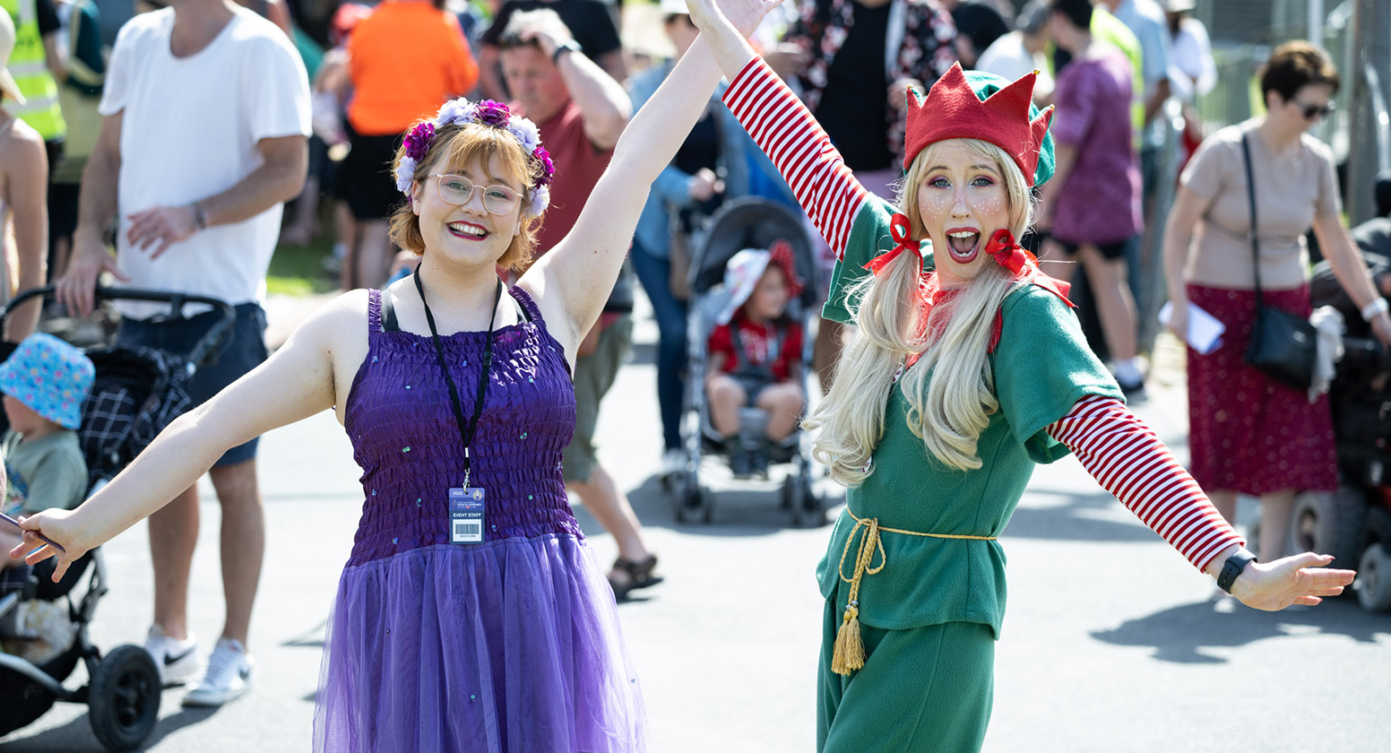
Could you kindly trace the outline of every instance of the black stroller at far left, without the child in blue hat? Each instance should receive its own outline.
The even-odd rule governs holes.
[[[19,294],[0,312],[0,324],[25,301],[51,291],[53,288],[36,288]],[[235,320],[235,310],[213,298],[114,288],[99,288],[97,298],[164,302],[170,303],[171,315],[175,316],[185,305],[206,303],[218,310],[223,319],[186,359],[145,348],[88,351],[96,366],[96,379],[82,408],[78,438],[88,462],[89,494],[125,468],[188,405],[184,381],[199,366],[217,358],[217,347]],[[4,344],[0,358],[7,356],[13,348],[13,344]],[[7,571],[6,583],[0,586],[0,636],[8,639],[7,643],[26,646],[39,637],[17,625],[15,618],[21,610],[54,618],[49,622],[58,624],[56,626],[60,629],[47,635],[57,633],[65,639],[64,643],[51,646],[46,654],[56,656],[40,664],[0,653],[0,735],[28,725],[56,700],[63,700],[88,706],[92,732],[106,749],[138,747],[154,731],[159,720],[163,690],[159,668],[140,646],[117,646],[103,653],[88,636],[96,605],[108,590],[100,550],[92,550],[78,560],[58,583],[51,579],[53,568],[54,561],[50,558],[35,565],[26,578],[25,569]],[[82,580],[86,580],[85,592],[79,589]],[[38,601],[43,604],[26,604]],[[78,661],[86,665],[89,679],[86,685],[70,690],[63,682]]]

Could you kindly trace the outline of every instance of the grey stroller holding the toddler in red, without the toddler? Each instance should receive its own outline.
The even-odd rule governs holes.
[[[746,196],[725,203],[701,237],[691,244],[690,316],[687,319],[687,379],[682,413],[682,441],[686,454],[684,472],[672,479],[673,508],[677,522],[711,522],[715,509],[714,494],[702,483],[704,459],[719,458],[727,463],[722,437],[711,425],[705,395],[708,367],[707,342],[715,328],[719,310],[727,302],[723,291],[725,264],[740,249],[765,249],[776,239],[786,239],[793,249],[797,276],[807,281],[801,294],[789,302],[787,313],[810,331],[815,315],[817,273],[811,239],[804,220],[783,205]],[[804,338],[798,355],[804,381],[812,373],[811,338]],[[805,390],[804,390],[805,391]],[[759,408],[740,411],[740,434],[762,441],[768,413]],[[779,490],[782,507],[791,515],[793,525],[825,525],[826,501],[812,489],[810,440],[796,431],[782,444],[769,448],[769,461],[790,465]]]

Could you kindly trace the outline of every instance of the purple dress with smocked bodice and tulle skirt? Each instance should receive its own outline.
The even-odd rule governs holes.
[[[320,752],[638,752],[644,711],[613,594],[570,515],[561,452],[574,390],[561,345],[530,322],[494,334],[470,486],[484,541],[449,540],[462,441],[430,337],[383,331],[345,429],[366,502],[344,568],[314,711]],[[465,416],[485,333],[442,337]]]

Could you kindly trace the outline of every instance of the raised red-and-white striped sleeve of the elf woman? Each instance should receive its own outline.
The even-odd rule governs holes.
[[[868,192],[846,167],[817,118],[761,57],[734,77],[723,99],[778,166],[836,259],[842,259],[850,225]]]

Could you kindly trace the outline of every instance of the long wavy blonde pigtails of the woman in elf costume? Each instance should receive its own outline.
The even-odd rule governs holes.
[[[989,142],[947,139],[918,153],[899,189],[897,209],[908,217],[912,237],[926,241],[918,189],[942,145],[951,141],[995,161],[1008,195],[1010,232],[1015,238],[1022,235],[1029,223],[1029,184],[1014,160]],[[985,241],[982,237],[979,242]],[[812,455],[830,469],[836,482],[860,486],[874,472],[869,461],[883,437],[894,374],[908,354],[919,351],[922,356],[897,381],[908,404],[908,429],[947,468],[981,468],[976,440],[1000,405],[988,358],[995,316],[1004,296],[1024,283],[1011,280],[1010,271],[992,259],[976,263],[983,267],[965,288],[933,308],[928,330],[918,319],[918,255],[903,253],[881,274],[867,274],[850,287],[847,308],[857,326],[855,335],[840,355],[830,393],[804,422],[807,429],[821,430]],[[919,331],[939,334],[924,342],[915,334]]]

